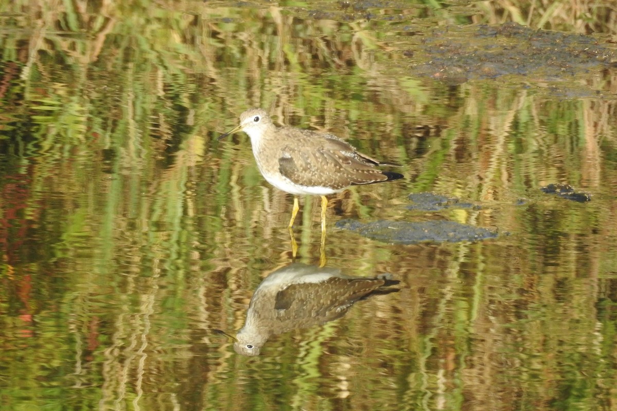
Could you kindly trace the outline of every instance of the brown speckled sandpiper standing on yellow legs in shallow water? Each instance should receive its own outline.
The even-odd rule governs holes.
[[[277,127],[261,108],[240,115],[240,124],[218,139],[244,131],[251,137],[257,168],[270,184],[294,195],[289,220],[291,228],[300,208],[298,195],[321,196],[321,230],[326,228],[326,195],[351,185],[396,180],[402,174],[381,171],[378,166],[395,166],[368,157],[333,134],[289,126]]]

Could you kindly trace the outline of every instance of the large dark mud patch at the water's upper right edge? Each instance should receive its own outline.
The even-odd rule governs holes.
[[[545,91],[562,98],[615,98],[610,92],[573,83],[600,70],[616,70],[615,47],[598,43],[594,36],[505,23],[440,27],[424,31],[418,39],[410,49],[400,50],[412,63],[408,66],[412,76],[450,84],[507,77],[509,81],[551,82],[542,84]]]

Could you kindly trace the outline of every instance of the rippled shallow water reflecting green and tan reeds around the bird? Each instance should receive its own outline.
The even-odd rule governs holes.
[[[351,3],[2,6],[3,410],[615,409],[615,47],[540,32],[536,54],[594,53],[487,68],[476,6]],[[252,358],[214,330],[291,264],[292,198],[245,134],[216,140],[248,107],[405,174],[331,196],[325,245],[400,290]],[[319,263],[318,210],[301,199],[298,262]],[[498,235],[408,245],[344,219]]]

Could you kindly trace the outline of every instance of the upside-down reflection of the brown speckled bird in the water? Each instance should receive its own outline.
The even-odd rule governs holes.
[[[234,349],[257,356],[272,335],[324,324],[342,317],[356,301],[398,291],[391,287],[399,281],[387,277],[352,277],[339,269],[300,263],[278,269],[255,290]]]

